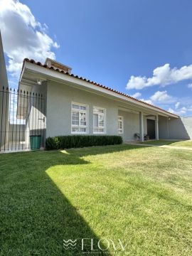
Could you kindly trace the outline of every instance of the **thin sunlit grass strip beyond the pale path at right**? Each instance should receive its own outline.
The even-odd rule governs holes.
[[[164,139],[159,139],[158,141],[145,141],[142,144],[152,144],[152,145],[169,145],[169,146],[183,146],[192,148],[192,140],[186,141],[169,141]]]

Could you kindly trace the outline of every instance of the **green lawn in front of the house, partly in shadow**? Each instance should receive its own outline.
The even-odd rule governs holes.
[[[125,251],[115,255],[192,255],[191,151],[1,154],[0,193],[0,255],[83,255],[82,238],[119,238]],[[65,250],[63,239],[78,246]]]

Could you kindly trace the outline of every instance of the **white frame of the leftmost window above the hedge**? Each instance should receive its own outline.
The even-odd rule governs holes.
[[[73,105],[78,105],[82,107],[86,107],[86,110],[78,110],[73,109]],[[71,110],[70,110],[70,125],[71,125],[71,134],[87,134],[88,133],[88,105],[82,104],[79,102],[71,102]],[[79,124],[72,124],[72,114],[73,112],[79,112]],[[86,125],[80,125],[80,113],[85,113],[86,117]],[[85,132],[73,132],[73,128],[85,128]]]

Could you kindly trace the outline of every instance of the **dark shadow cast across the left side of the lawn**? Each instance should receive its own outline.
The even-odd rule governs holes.
[[[80,157],[127,149],[134,146],[73,149],[66,154],[36,151],[1,155],[0,255],[82,255],[82,238],[92,238],[97,245],[100,238],[46,170],[58,165],[89,164]],[[63,247],[63,240],[69,239],[77,240],[74,250]],[[85,251],[90,252],[90,240],[86,245]]]

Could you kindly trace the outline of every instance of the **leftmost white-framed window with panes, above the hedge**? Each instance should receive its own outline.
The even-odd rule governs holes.
[[[73,103],[71,105],[71,133],[87,133],[87,105]]]

